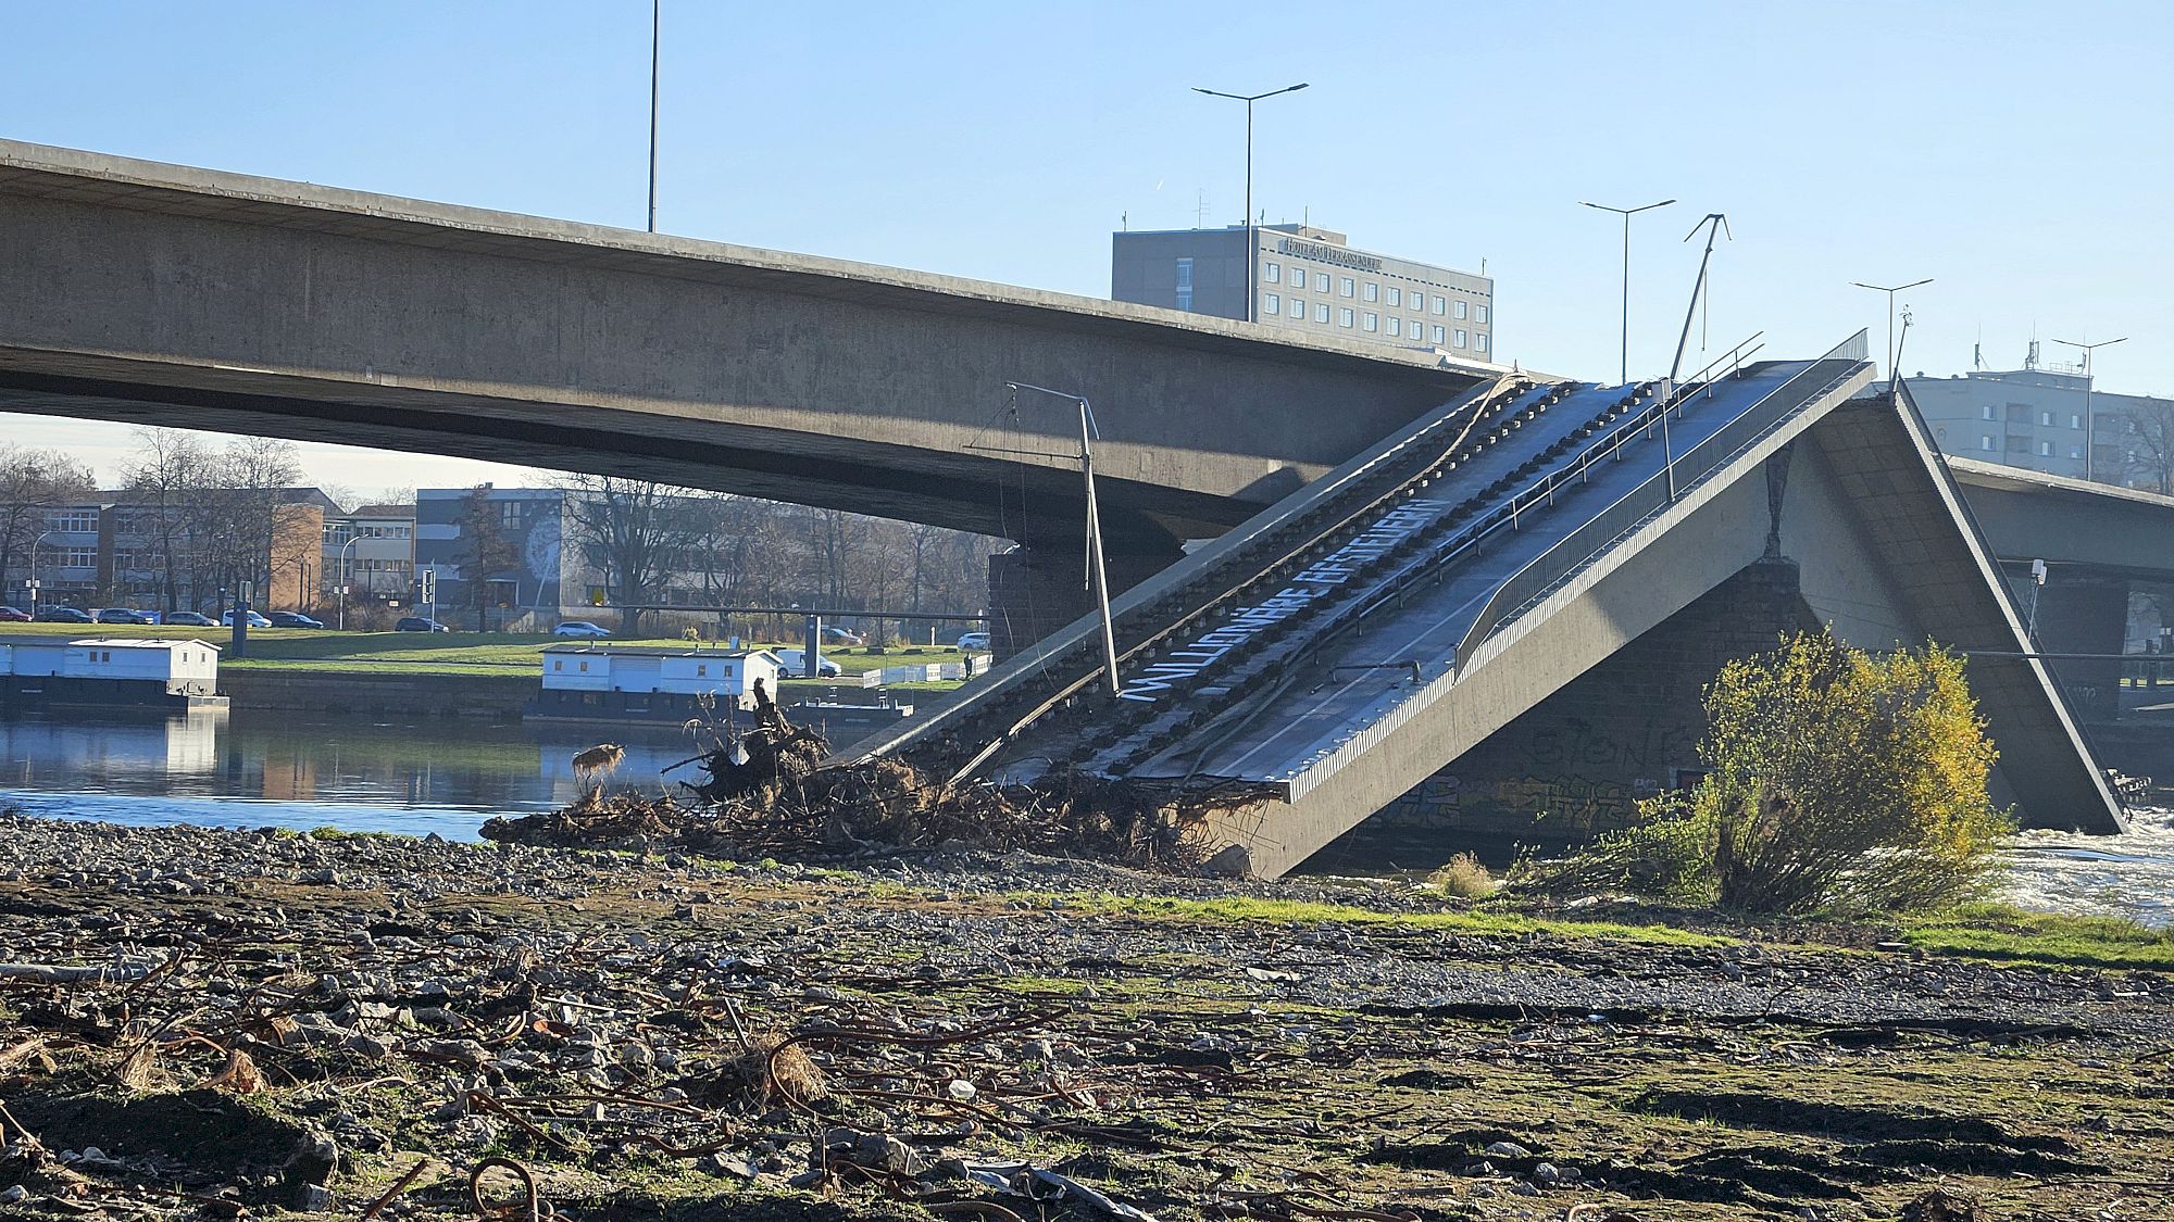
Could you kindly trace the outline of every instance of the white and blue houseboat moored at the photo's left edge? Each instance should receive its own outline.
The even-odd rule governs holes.
[[[0,637],[0,709],[224,709],[220,648],[196,641]]]

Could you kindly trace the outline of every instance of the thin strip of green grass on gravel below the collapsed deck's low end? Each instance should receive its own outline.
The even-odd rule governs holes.
[[[1385,913],[1354,905],[1324,905],[1317,900],[1270,900],[1257,896],[1220,896],[1213,900],[1165,900],[1152,896],[1115,896],[1109,891],[1017,891],[1011,898],[1035,907],[1048,907],[1052,898],[1063,900],[1063,909],[1078,913],[1113,913],[1148,920],[1198,920],[1228,924],[1387,924],[1398,928],[1446,928],[1459,933],[1480,933],[1494,937],[1524,937],[1544,933],[1550,937],[1594,937],[1602,942],[1639,942],[1650,946],[1733,946],[1737,939],[1713,933],[1674,928],[1665,924],[1622,924],[1533,918],[1498,909],[1459,911],[1415,911]]]

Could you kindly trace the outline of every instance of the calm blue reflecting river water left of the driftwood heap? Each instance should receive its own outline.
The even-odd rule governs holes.
[[[598,731],[480,722],[352,722],[287,713],[0,718],[0,805],[130,824],[435,831],[472,839],[493,813],[561,807]],[[672,731],[622,737],[615,783],[657,785],[691,755]]]

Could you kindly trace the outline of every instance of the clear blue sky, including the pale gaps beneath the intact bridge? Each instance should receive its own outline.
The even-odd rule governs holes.
[[[648,0],[0,0],[0,135],[639,228]],[[1711,341],[1815,352],[1937,280],[1904,367],[2109,339],[2174,394],[2174,4],[741,4],[663,0],[659,228],[1107,296],[1109,230],[1254,202],[1498,278],[1498,354],[1665,370],[1728,213]],[[1691,352],[1698,352],[1694,333]],[[2065,350],[2048,344],[2048,359]],[[126,431],[0,417],[104,467]],[[363,489],[480,467],[311,448]]]

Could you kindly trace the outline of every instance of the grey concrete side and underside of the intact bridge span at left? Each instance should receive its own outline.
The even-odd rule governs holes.
[[[1111,546],[1215,535],[1487,365],[0,141],[0,411],[609,470]]]

